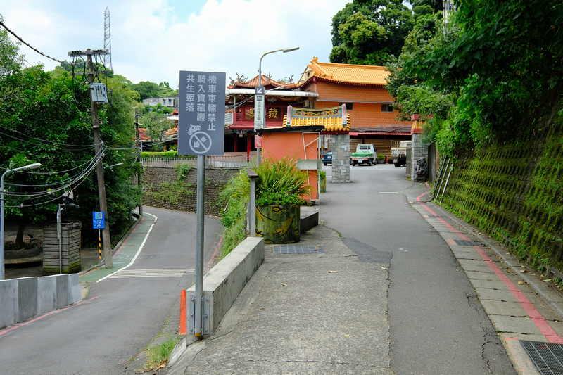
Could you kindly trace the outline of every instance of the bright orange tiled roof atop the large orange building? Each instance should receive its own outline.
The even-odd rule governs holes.
[[[313,58],[307,65],[300,83],[310,80],[311,77],[318,77],[322,80],[350,84],[387,84],[385,79],[389,72],[383,66],[319,63],[317,59]]]

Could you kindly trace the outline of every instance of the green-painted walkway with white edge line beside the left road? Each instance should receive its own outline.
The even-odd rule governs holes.
[[[122,270],[132,265],[132,262],[134,262],[137,255],[143,249],[144,243],[148,235],[151,234],[156,220],[156,216],[145,212],[137,227],[132,230],[127,239],[113,253],[113,268],[94,268],[89,272],[84,272],[84,274],[80,275],[80,283],[94,283],[108,277],[116,277],[123,272]]]

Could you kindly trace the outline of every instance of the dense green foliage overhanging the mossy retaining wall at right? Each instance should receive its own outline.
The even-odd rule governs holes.
[[[443,32],[415,27],[390,92],[405,115],[434,115],[427,130],[443,153],[510,141],[562,115],[562,26],[561,0],[458,1]]]

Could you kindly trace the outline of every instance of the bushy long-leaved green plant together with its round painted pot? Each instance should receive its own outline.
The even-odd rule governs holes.
[[[303,196],[310,192],[308,174],[295,160],[264,160],[255,168],[256,235],[265,243],[293,243],[301,239]]]

